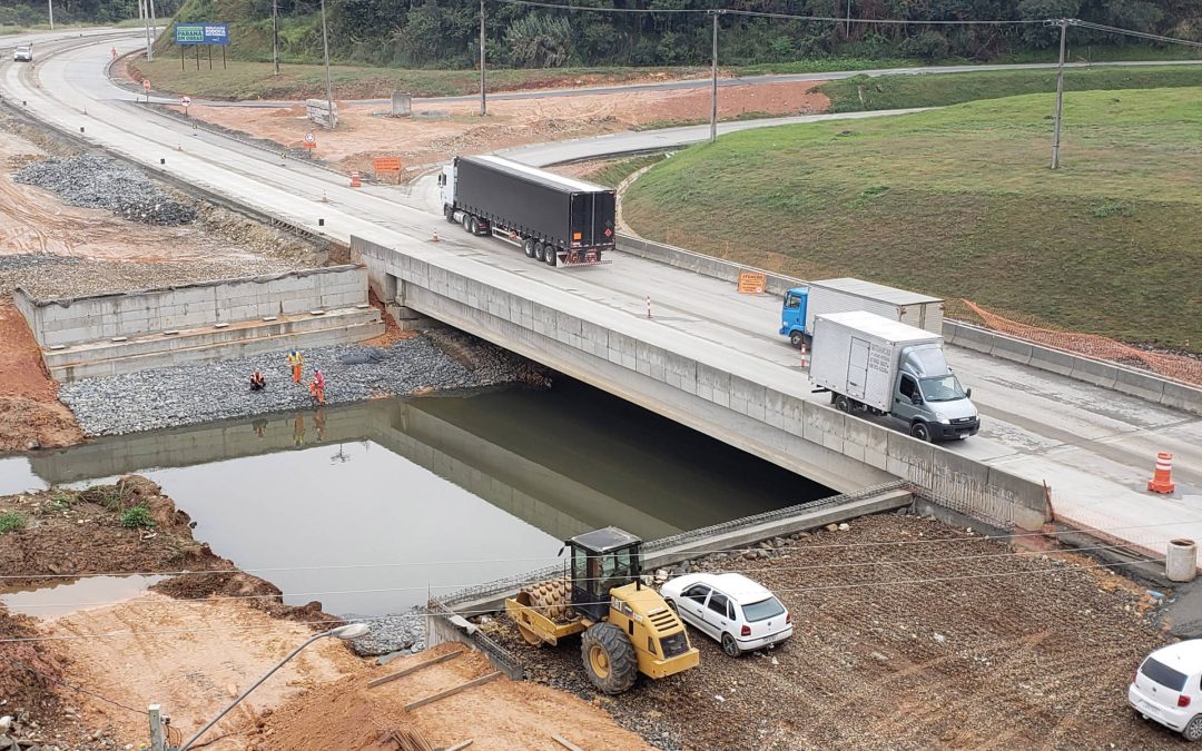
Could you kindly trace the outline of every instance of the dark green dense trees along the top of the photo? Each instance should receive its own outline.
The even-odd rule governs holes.
[[[184,0],[177,20],[228,22],[232,24],[231,52],[242,59],[266,60],[272,50],[272,4],[273,0]],[[285,59],[319,60],[322,49],[319,4],[314,0],[278,0],[278,4]],[[713,0],[588,0],[578,5],[695,11],[728,7],[839,18],[846,13],[843,0],[791,0],[786,5],[775,0],[748,0],[737,5]],[[327,0],[327,11],[331,53],[343,62],[471,67],[478,60],[477,0]],[[1202,40],[1202,6],[1195,0],[876,0],[853,4],[852,14],[855,18],[915,22],[1079,17],[1138,31]],[[724,65],[835,55],[870,60],[987,60],[1030,55],[1033,50],[1051,54],[1058,40],[1054,29],[1040,23],[851,24],[849,32],[844,24],[833,22],[724,16],[720,26]],[[585,13],[494,0],[487,4],[486,34],[488,59],[501,67],[704,65],[710,54],[710,22],[703,13]],[[160,42],[160,52],[171,49],[168,37]],[[1084,29],[1073,29],[1070,37],[1075,54],[1090,44],[1124,42],[1124,37]]]

